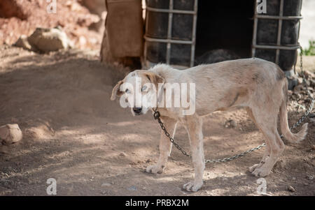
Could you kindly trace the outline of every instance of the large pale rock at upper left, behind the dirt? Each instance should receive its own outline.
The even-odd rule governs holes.
[[[73,47],[61,27],[53,29],[36,28],[27,40],[31,47],[40,52],[66,50]]]

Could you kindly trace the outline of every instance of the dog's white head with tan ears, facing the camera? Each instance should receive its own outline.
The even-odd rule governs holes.
[[[122,107],[131,107],[132,114],[146,114],[158,104],[158,92],[165,80],[150,70],[134,70],[120,80],[111,93],[111,100],[120,96]]]

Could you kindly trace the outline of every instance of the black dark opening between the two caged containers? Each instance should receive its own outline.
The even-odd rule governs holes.
[[[196,61],[222,50],[230,59],[251,57],[253,14],[253,0],[198,1]]]

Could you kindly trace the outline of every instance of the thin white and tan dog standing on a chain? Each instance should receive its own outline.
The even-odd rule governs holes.
[[[141,82],[137,83],[139,79]],[[307,134],[307,123],[299,133],[290,132],[287,112],[288,82],[279,66],[262,59],[223,61],[186,70],[176,70],[165,64],[159,64],[149,70],[135,70],[116,84],[111,100],[116,96],[141,95],[142,104],[146,106],[137,106],[135,100],[128,103],[134,115],[146,114],[152,107],[158,106],[161,93],[162,98],[166,99],[167,90],[164,84],[167,83],[195,84],[193,114],[183,114],[183,110],[186,110],[183,107],[158,107],[162,122],[169,133],[174,136],[178,122],[181,122],[188,132],[195,167],[195,179],[183,185],[188,191],[197,191],[203,184],[202,116],[233,107],[244,107],[247,110],[266,138],[266,151],[262,160],[249,167],[249,171],[256,177],[267,176],[283,152],[284,144],[277,130],[278,114],[281,132],[288,141],[300,142]],[[128,88],[127,84],[132,88]],[[162,173],[171,149],[169,138],[162,132],[158,163],[148,166],[146,172]]]

